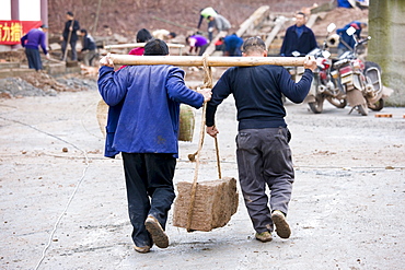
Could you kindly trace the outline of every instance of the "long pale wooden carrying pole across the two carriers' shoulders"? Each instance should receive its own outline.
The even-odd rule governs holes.
[[[204,66],[198,56],[132,56],[109,55],[116,64],[173,64],[185,67]],[[207,57],[208,67],[248,67],[261,64],[303,66],[304,57]]]

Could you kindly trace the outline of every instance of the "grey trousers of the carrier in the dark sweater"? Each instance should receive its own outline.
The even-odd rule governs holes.
[[[271,211],[288,212],[294,179],[288,141],[287,128],[244,129],[238,133],[239,180],[257,233],[273,232]],[[270,200],[266,195],[266,185],[270,190]]]

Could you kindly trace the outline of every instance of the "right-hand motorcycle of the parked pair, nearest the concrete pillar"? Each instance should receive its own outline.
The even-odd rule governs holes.
[[[349,27],[347,34],[352,36],[356,30]],[[339,89],[346,93],[346,99],[362,116],[368,115],[368,108],[379,111],[384,107],[386,96],[381,82],[381,68],[378,63],[362,61],[358,58],[358,46],[366,44],[371,37],[358,42],[355,36],[355,47],[345,51],[333,68],[338,71]],[[350,114],[349,113],[349,114]]]

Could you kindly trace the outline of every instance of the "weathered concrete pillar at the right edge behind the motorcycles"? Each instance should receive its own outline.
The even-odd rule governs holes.
[[[383,84],[393,89],[389,106],[405,106],[405,0],[371,0],[367,60],[382,68]]]

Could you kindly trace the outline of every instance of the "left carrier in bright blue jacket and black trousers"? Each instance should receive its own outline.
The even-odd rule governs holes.
[[[144,56],[165,55],[169,48],[161,39],[144,46]],[[127,66],[115,72],[108,56],[100,62],[99,91],[109,105],[105,155],[123,154],[135,250],[148,253],[153,244],[165,248],[164,228],[175,198],[180,104],[199,108],[211,91],[189,90],[184,71],[173,66]]]

